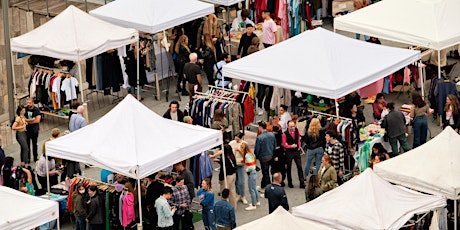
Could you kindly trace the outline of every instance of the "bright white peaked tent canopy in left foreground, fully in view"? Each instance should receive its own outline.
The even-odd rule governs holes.
[[[47,142],[46,153],[140,179],[221,143],[220,130],[165,119],[128,95],[98,121]]]

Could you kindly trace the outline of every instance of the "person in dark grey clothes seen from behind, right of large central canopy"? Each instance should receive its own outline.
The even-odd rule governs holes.
[[[401,111],[395,110],[393,102],[388,103],[387,108],[389,112],[382,121],[382,128],[389,137],[392,155],[397,156],[399,154],[398,142],[405,152],[410,150],[406,137],[406,118]]]

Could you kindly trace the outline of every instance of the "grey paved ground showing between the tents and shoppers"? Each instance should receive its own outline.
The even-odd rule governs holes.
[[[324,25],[324,27],[328,28],[328,29],[332,28],[330,23]],[[344,34],[347,35],[347,36],[350,36],[350,37],[354,36],[354,35],[352,35],[350,33],[344,33]],[[391,43],[391,42],[387,42],[387,41],[383,41],[383,43],[387,44],[387,45],[399,46],[399,44]],[[459,74],[458,71],[454,74],[454,76],[459,76],[459,75],[460,74]],[[173,80],[173,83],[171,84],[171,92],[174,92],[174,90],[175,90],[174,85],[175,85],[175,80]],[[126,92],[124,94],[126,94]],[[123,94],[121,94],[121,95],[123,95]],[[143,103],[147,107],[151,108],[153,111],[155,111],[158,114],[163,114],[163,112],[168,108],[169,102],[165,102],[164,98],[163,98],[162,101],[156,101],[154,99],[154,97],[152,96],[152,92],[143,92],[142,96],[145,98]],[[401,105],[403,103],[410,102],[410,99],[407,97],[407,95],[401,95],[398,100],[396,100],[395,97],[396,96],[394,94],[387,95],[387,101],[388,102],[395,101],[397,103],[397,106],[399,106],[399,105]],[[170,95],[169,100],[177,100],[177,99],[178,99],[178,97],[177,97],[176,94]],[[110,97],[105,97],[105,98],[101,99],[101,97],[92,96],[91,100],[92,101],[90,101],[90,103],[89,103],[89,107],[90,107],[89,117],[90,117],[91,122],[95,122],[98,118],[100,118],[101,116],[106,114],[111,108],[113,108],[113,106],[115,106],[115,104],[111,104],[111,98]],[[182,101],[180,102],[181,108],[184,107],[184,105],[186,103],[186,100],[187,100],[187,97],[182,97]],[[102,106],[101,106],[101,104],[102,104]],[[107,105],[107,104],[110,104],[110,105]],[[107,105],[107,106],[105,106],[105,105]],[[372,108],[371,108],[370,105],[365,105],[365,115],[366,115],[366,118],[367,118],[368,122],[372,119],[371,109]],[[441,131],[441,129],[434,122],[431,122],[431,120],[432,119],[429,120],[430,121],[429,122],[429,129],[430,129],[431,136],[435,136]],[[42,145],[43,140],[45,140],[48,137],[50,137],[49,130],[51,128],[59,127],[61,130],[66,130],[67,129],[67,124],[64,121],[59,121],[58,119],[51,119],[51,120],[47,120],[46,122],[47,122],[46,125],[44,125],[44,126],[46,126],[46,128],[44,128],[44,130],[42,130],[41,133],[40,133],[39,146]],[[13,136],[12,132],[9,130],[9,127],[2,126],[1,127],[1,134],[3,135],[4,139],[5,138],[14,139],[14,136]],[[412,140],[411,140],[410,136],[409,136],[409,142],[412,143]],[[15,141],[12,141],[12,143],[13,144],[5,146],[5,148],[4,148],[5,152],[6,152],[7,155],[13,156],[13,157],[15,157],[15,159],[19,159],[19,146],[18,146],[17,143],[15,143]],[[16,161],[18,161],[18,160],[16,160]],[[304,163],[305,163],[305,156],[302,156],[302,165]],[[89,176],[91,178],[99,179],[99,171],[100,171],[100,169],[98,169],[98,168],[88,168],[88,169],[85,169],[85,175]],[[295,169],[293,169],[293,171],[295,171]],[[215,174],[214,178],[217,178],[217,172],[214,172],[214,174]],[[294,186],[295,186],[295,188],[286,188],[286,192],[287,192],[288,199],[289,199],[289,204],[290,204],[291,207],[303,204],[305,202],[304,190],[299,188],[299,182],[298,182],[298,180],[295,179],[295,178],[297,178],[297,176],[295,176],[296,175],[295,172],[293,172],[293,175],[294,175]],[[259,180],[260,180],[260,176],[259,176]],[[260,183],[258,183],[258,184],[260,184]],[[218,188],[217,181],[213,181],[213,187]],[[248,193],[247,193],[246,197],[247,197],[248,200],[250,199]],[[216,199],[219,199],[219,197],[216,196]],[[241,204],[241,203],[239,203],[239,205],[238,205],[238,208],[237,208],[237,211],[236,211],[236,213],[237,213],[237,224],[238,225],[250,222],[252,220],[255,220],[257,218],[263,217],[263,216],[268,214],[267,201],[264,200],[264,199],[261,200],[261,206],[258,207],[257,210],[255,210],[255,211],[251,211],[251,212],[245,211],[244,210],[245,207],[246,206]],[[197,223],[195,225],[195,227],[196,227],[196,229],[204,229],[203,225],[202,225],[202,222]],[[62,229],[72,229],[72,226],[69,223],[64,223]]]

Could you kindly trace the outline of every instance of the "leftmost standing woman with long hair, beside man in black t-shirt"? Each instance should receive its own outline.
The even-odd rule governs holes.
[[[16,140],[21,147],[21,166],[27,166],[30,163],[29,145],[27,142],[27,122],[26,122],[26,108],[18,106],[16,109],[16,118],[11,126],[11,129],[16,131]]]

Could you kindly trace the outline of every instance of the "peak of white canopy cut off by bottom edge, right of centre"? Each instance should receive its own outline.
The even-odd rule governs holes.
[[[266,215],[260,219],[243,224],[235,230],[301,230],[301,229],[315,229],[315,230],[332,230],[326,225],[315,223],[300,217],[295,217],[286,211],[283,207],[279,206],[271,214]]]

